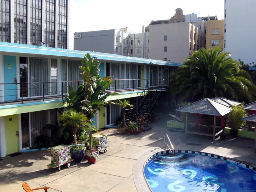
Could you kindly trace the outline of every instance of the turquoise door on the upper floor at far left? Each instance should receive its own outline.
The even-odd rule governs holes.
[[[3,83],[5,101],[17,100],[17,85],[14,84],[16,77],[16,56],[3,56]]]

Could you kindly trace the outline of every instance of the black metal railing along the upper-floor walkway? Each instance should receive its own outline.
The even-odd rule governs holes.
[[[150,89],[166,89],[168,79],[112,79],[113,83],[104,92],[135,92]],[[0,105],[24,104],[37,101],[65,99],[68,87],[76,90],[83,81],[54,81],[31,83],[0,83]]]

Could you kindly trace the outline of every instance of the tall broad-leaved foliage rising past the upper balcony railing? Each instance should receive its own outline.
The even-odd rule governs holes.
[[[113,80],[111,77],[101,78],[99,76],[99,65],[100,62],[88,53],[81,59],[79,76],[83,80],[83,84],[79,85],[77,90],[74,90],[70,85],[68,97],[64,101],[68,108],[74,108],[78,112],[85,113],[90,120],[94,118],[102,106],[114,104],[111,101],[106,101],[107,97],[119,95],[115,92],[104,93],[113,83]]]

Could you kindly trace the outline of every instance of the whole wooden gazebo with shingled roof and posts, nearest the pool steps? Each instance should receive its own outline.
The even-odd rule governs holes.
[[[222,124],[221,127],[223,127],[224,126],[223,116],[228,114],[230,111],[232,111],[232,108],[228,107],[226,105],[223,105],[219,102],[216,102],[212,99],[205,98],[205,99],[196,101],[190,105],[176,109],[176,111],[186,113],[185,136],[187,136],[187,133],[212,136],[213,141],[215,141],[215,137],[220,135],[223,131],[222,128],[216,129],[216,116],[221,118],[221,124]],[[194,116],[196,118],[195,119],[195,127],[188,129],[187,113],[194,114]],[[198,119],[202,115],[213,115],[214,116],[213,128],[212,128],[212,125],[200,125],[199,124]]]

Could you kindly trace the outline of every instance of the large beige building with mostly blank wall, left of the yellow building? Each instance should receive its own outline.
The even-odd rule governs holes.
[[[183,63],[200,49],[200,29],[189,22],[149,25],[149,57]]]

